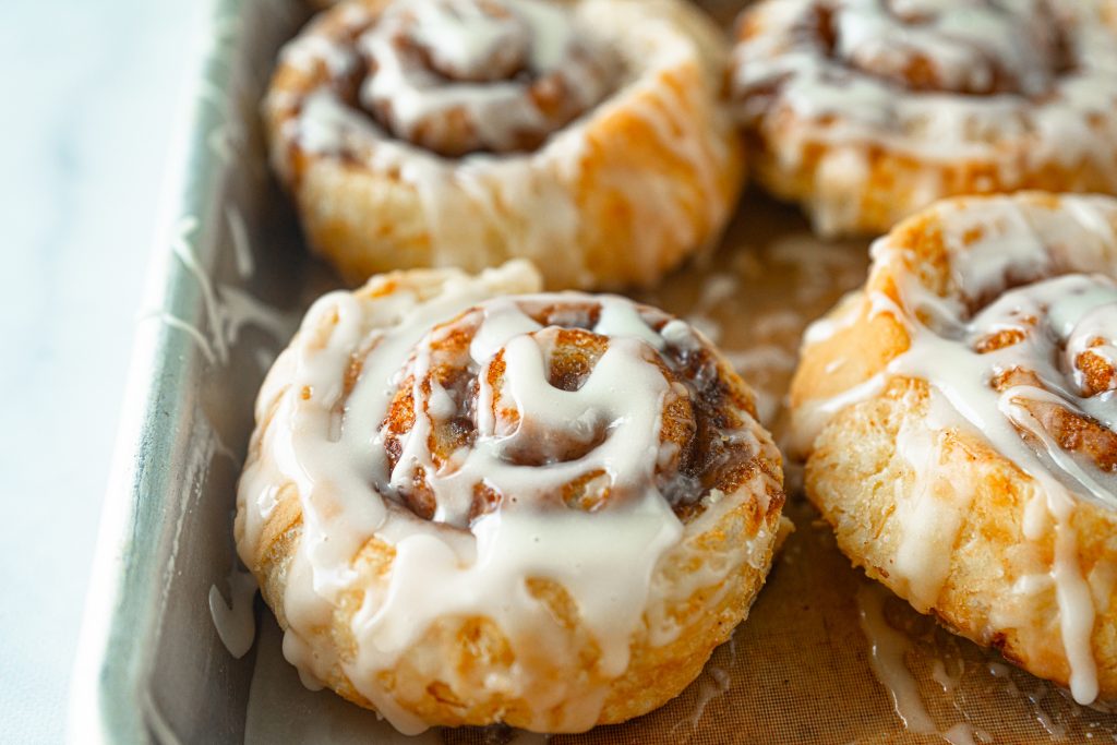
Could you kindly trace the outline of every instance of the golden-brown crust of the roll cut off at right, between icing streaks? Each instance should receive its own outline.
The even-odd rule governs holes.
[[[897,287],[909,277],[919,277],[922,286],[939,296],[956,297],[955,262],[966,250],[960,243],[978,241],[986,230],[1003,230],[1004,212],[989,212],[984,229],[963,235],[954,230],[948,238],[944,231],[960,216],[981,216],[989,209],[986,204],[1014,204],[1041,240],[1051,240],[1049,267],[1040,276],[1028,276],[1031,269],[1010,268],[1010,283],[1013,271],[1023,273],[1018,281],[1043,279],[1048,273],[1105,271],[1117,276],[1114,233],[1106,239],[1105,231],[1099,232],[1104,221],[1110,229],[1117,228],[1117,209],[1105,200],[1070,204],[1073,199],[1024,194],[996,201],[956,200],[903,222],[881,239],[887,245],[875,254],[877,261],[866,288],[827,316],[819,327],[827,333],[808,335],[791,389],[801,427],[800,455],[806,457],[806,494],[833,526],[839,546],[851,561],[947,628],[1000,649],[1008,659],[1062,686],[1070,685],[1071,666],[1056,584],[1031,584],[1035,577],[1047,577],[1057,563],[1056,518],[1042,517],[1047,524],[1039,535],[1034,525],[1029,526],[1037,519],[1035,504],[1046,499],[1043,487],[986,436],[965,424],[961,416],[944,419],[944,404],[933,401],[937,381],[886,371],[913,342],[909,322],[898,312],[881,308],[889,302],[894,308],[904,307]],[[1062,219],[1069,223],[1075,210],[1095,208],[1098,222],[1083,217],[1087,228],[1080,227],[1077,236],[1053,231],[1052,225]],[[1066,241],[1052,240],[1053,235]],[[1097,243],[1091,246],[1091,241]],[[1068,250],[1068,245],[1076,250]],[[899,267],[885,260],[886,254],[907,259]],[[971,311],[976,313],[994,299],[970,298]],[[1021,338],[1010,332],[973,343],[975,352],[989,354],[1021,343]],[[863,388],[867,381],[869,389]],[[879,383],[872,385],[872,381]],[[1023,383],[1037,384],[1037,379],[1022,369],[989,381],[996,391]],[[859,395],[840,401],[859,385]],[[817,430],[806,427],[809,414],[818,411],[820,402],[836,400],[839,405],[815,422],[820,424]],[[1042,399],[1023,405],[1038,414],[1068,451],[1078,450],[1100,469],[1111,469],[1110,430]],[[1027,433],[1021,437],[1028,439]],[[913,447],[914,439],[923,445]],[[933,453],[929,461],[919,455],[925,452]],[[918,517],[910,512],[915,504],[919,505]],[[1117,604],[1110,602],[1117,569],[1117,513],[1081,497],[1067,526],[1077,539],[1078,571],[1094,595],[1089,642],[1097,665],[1098,703],[1111,705],[1117,700]],[[946,543],[935,544],[945,556],[941,581],[928,583],[919,572],[913,573],[906,558],[911,545],[905,544],[913,534],[926,541],[946,538]]]

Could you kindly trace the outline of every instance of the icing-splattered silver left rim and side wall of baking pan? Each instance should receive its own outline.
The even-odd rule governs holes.
[[[255,389],[309,277],[268,178],[258,101],[296,2],[203,0],[135,329],[71,690],[75,743],[233,743],[252,655],[214,632]]]

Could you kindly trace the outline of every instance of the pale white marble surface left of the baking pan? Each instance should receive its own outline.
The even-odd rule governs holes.
[[[0,2],[0,741],[63,739],[199,4]]]

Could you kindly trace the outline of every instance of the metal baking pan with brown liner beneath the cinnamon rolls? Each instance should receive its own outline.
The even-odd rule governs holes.
[[[743,3],[710,0],[719,20]],[[206,0],[105,502],[69,711],[75,743],[405,742],[374,715],[299,685],[258,600],[237,658],[236,480],[267,366],[336,286],[308,258],[268,174],[258,103],[298,0]],[[639,297],[719,340],[779,434],[805,324],[859,284],[867,242],[824,245],[747,193],[723,246]],[[1117,717],[951,637],[867,582],[796,494],[798,526],[750,620],[678,699],[562,743],[1117,742]],[[249,601],[251,602],[251,601]],[[226,611],[227,612],[227,611]],[[233,640],[237,641],[237,640]],[[236,644],[233,644],[236,646]],[[242,650],[238,650],[242,651]],[[886,684],[880,682],[885,680]],[[428,742],[524,741],[499,729]],[[407,741],[410,742],[410,741]]]

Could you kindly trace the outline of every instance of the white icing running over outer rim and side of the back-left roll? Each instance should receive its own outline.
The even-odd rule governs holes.
[[[332,88],[322,86],[305,97],[275,94],[268,98],[266,106],[292,116],[280,133],[283,147],[273,151],[276,166],[281,173],[290,172],[287,157],[294,146],[323,157],[349,154],[375,173],[398,174],[422,203],[432,266],[467,261],[471,264],[465,268],[476,270],[514,252],[552,267],[548,275],[564,286],[593,284],[593,268],[585,256],[571,249],[592,243],[599,230],[577,201],[591,180],[595,188],[615,189],[640,206],[639,214],[645,217],[629,219],[626,230],[638,254],[633,266],[646,267],[648,277],[653,276],[665,246],[674,246],[680,238],[694,243],[704,226],[715,226],[722,219],[725,199],[718,174],[733,154],[727,141],[709,136],[709,123],[703,120],[713,117],[715,127],[724,132],[732,125],[719,112],[709,111],[709,92],[701,86],[665,84],[665,78],[676,79],[680,70],[705,71],[703,55],[712,52],[697,48],[694,38],[663,17],[658,6],[581,0],[571,8],[579,36],[612,48],[622,69],[612,95],[582,120],[554,132],[537,150],[504,156],[478,152],[452,160],[441,157],[393,137],[370,116],[346,106]],[[352,29],[366,25],[367,19],[357,20]],[[312,27],[306,36],[327,39],[335,51],[342,46],[321,28]],[[304,54],[316,49],[316,45],[309,46]],[[696,112],[700,114],[696,116]],[[595,145],[586,134],[595,123],[619,114],[638,117],[647,125],[652,141],[649,147],[671,153],[691,169],[699,193],[690,198],[691,187],[682,193],[674,180],[639,169],[595,168]],[[507,126],[487,121],[494,127]],[[697,218],[694,209],[699,210]]]

